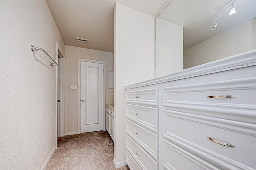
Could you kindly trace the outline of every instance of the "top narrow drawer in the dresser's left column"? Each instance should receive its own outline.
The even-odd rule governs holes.
[[[136,105],[159,105],[159,89],[126,92],[127,103]]]

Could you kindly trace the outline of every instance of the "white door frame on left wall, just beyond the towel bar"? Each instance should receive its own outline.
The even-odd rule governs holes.
[[[56,43],[56,59],[60,56],[60,63],[56,67],[56,146],[58,137],[65,136],[65,55]],[[60,115],[58,119],[58,67],[60,67]],[[59,122],[58,122],[59,121]],[[58,127],[59,125],[59,127]],[[58,136],[59,128],[59,136]]]

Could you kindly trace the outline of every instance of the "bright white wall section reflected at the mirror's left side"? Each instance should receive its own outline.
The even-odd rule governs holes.
[[[156,77],[183,70],[183,27],[156,18]]]

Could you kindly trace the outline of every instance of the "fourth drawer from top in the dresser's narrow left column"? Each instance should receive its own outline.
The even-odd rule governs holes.
[[[142,167],[147,170],[158,170],[158,162],[151,158],[129,135],[126,135],[127,150],[134,155],[134,158],[140,162]]]

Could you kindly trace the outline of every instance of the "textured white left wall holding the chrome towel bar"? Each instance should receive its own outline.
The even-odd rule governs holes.
[[[38,170],[56,146],[56,42],[45,1],[0,3],[0,169]]]

